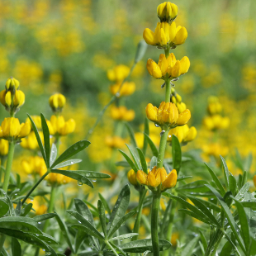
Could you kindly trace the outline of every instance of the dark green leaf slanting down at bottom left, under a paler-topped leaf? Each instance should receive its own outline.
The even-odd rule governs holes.
[[[26,242],[26,244],[36,245],[37,247],[40,247],[41,249],[45,249],[45,250],[49,251],[48,244],[45,244],[45,242],[41,241],[36,235],[24,233],[19,230],[9,230],[9,229],[2,229],[2,228],[0,228],[0,233],[20,239],[20,240]]]

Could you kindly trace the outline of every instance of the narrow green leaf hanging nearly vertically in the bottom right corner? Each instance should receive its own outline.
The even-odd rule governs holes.
[[[234,197],[233,199],[235,200]],[[237,200],[235,200],[235,206],[237,208],[238,215],[239,215],[240,229],[242,231],[241,235],[244,239],[245,249],[249,251],[249,245],[250,245],[249,225],[248,225],[247,216],[244,211],[244,206],[242,206],[242,204]]]

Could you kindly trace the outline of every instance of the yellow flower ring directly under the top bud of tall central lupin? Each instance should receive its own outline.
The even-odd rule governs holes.
[[[154,32],[146,28],[143,38],[148,45],[175,48],[177,45],[182,45],[187,39],[187,30],[184,26],[177,27],[175,21],[171,25],[168,22],[159,22]]]

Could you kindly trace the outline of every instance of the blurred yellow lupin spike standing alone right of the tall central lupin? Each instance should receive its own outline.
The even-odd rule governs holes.
[[[209,97],[207,111],[209,116],[203,119],[203,125],[208,130],[226,129],[230,126],[230,119],[227,116],[220,116],[222,106],[217,97]]]

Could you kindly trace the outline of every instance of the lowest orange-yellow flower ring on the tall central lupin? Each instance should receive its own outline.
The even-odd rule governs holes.
[[[161,191],[174,187],[177,183],[177,172],[175,169],[171,173],[166,173],[165,168],[154,168],[148,173],[144,173],[139,170],[136,174],[136,178],[141,185],[148,186],[154,190],[161,185]]]

